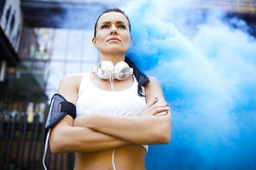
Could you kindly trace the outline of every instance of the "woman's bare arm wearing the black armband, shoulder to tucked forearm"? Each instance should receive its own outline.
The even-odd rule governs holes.
[[[58,93],[67,101],[76,104],[81,78],[80,74],[66,76],[61,80]],[[73,118],[67,115],[51,130],[49,142],[52,153],[94,152],[130,143],[93,129],[74,127],[73,124]]]

